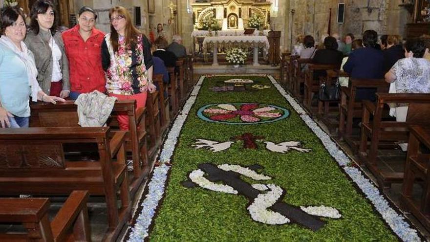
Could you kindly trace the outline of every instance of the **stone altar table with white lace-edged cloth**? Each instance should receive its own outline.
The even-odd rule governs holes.
[[[203,41],[203,51],[206,53],[208,45],[213,46],[213,63],[212,66],[218,66],[218,48],[231,48],[231,47],[253,47],[253,66],[259,66],[258,64],[258,48],[263,48],[264,55],[267,55],[269,50],[269,41],[266,36],[210,36],[205,37]]]

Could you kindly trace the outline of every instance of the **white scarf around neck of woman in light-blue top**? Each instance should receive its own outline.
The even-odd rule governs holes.
[[[20,57],[20,59],[24,63],[25,69],[27,70],[28,81],[31,87],[31,100],[33,102],[37,102],[37,94],[40,90],[42,90],[42,88],[39,87],[39,83],[37,82],[38,73],[33,53],[31,53],[31,51],[27,48],[27,45],[25,45],[23,41],[21,41],[21,52],[18,47],[4,35],[0,37],[0,44],[3,44],[5,47],[12,50]]]

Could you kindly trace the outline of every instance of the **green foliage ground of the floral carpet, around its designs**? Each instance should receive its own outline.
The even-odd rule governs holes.
[[[368,200],[346,178],[318,137],[304,124],[280,93],[265,77],[241,76],[254,84],[271,88],[258,91],[218,92],[210,88],[225,85],[229,76],[206,78],[194,107],[183,126],[173,155],[166,197],[155,219],[150,240],[196,242],[260,241],[397,241]],[[226,125],[199,119],[197,110],[216,103],[263,103],[284,107],[290,116],[278,122],[260,125]],[[212,153],[191,147],[196,138],[227,141],[244,132],[264,136],[275,143],[301,141],[309,153],[290,151],[272,153],[258,141],[258,149],[244,149],[241,141],[228,150]],[[323,219],[327,223],[313,232],[295,223],[267,225],[251,219],[243,196],[217,193],[203,188],[185,188],[182,181],[201,163],[259,164],[261,174],[273,177],[264,183],[280,185],[286,192],[283,201],[292,205],[325,205],[340,211],[342,219]],[[246,179],[247,182],[255,182]]]

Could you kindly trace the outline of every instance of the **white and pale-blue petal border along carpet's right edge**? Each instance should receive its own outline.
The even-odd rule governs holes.
[[[382,218],[387,222],[388,226],[393,232],[399,236],[402,241],[405,242],[416,242],[421,241],[418,236],[418,232],[411,228],[409,223],[405,220],[405,217],[397,213],[390,205],[384,195],[378,190],[372,181],[367,179],[363,173],[355,168],[348,166],[351,160],[339,149],[337,144],[330,138],[330,136],[324,132],[320,126],[307,114],[307,112],[301,107],[297,101],[289,95],[284,88],[273,78],[271,75],[267,75],[269,80],[278,89],[280,94],[287,100],[287,102],[296,110],[301,119],[306,125],[318,136],[323,143],[324,147],[330,153],[333,158],[338,162],[339,166],[342,167],[345,173],[354,181],[357,186],[363,191],[375,209],[381,214]]]

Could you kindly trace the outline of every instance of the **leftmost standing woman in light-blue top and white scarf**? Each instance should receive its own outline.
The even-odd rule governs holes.
[[[39,87],[33,53],[23,42],[26,27],[22,10],[4,7],[0,16],[0,128],[28,127],[30,96],[34,102],[65,100],[48,96]]]

